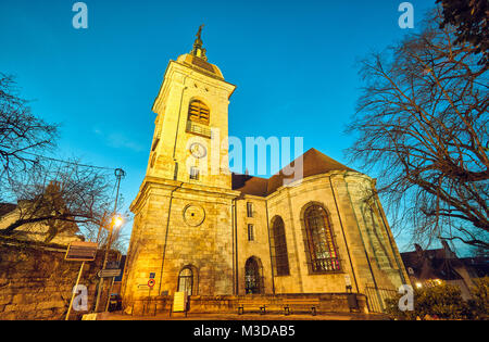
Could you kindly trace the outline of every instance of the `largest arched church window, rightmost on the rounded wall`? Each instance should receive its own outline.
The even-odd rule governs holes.
[[[313,204],[304,212],[311,270],[313,273],[340,270],[339,257],[331,225],[326,211]]]

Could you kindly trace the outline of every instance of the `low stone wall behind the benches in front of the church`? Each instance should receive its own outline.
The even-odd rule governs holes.
[[[246,300],[255,303],[256,308],[261,305],[267,306],[267,312],[283,313],[284,303],[287,299],[293,300],[318,300],[317,314],[322,313],[351,313],[348,293],[311,293],[311,294],[277,294],[277,295],[223,295],[203,296],[193,295],[189,299],[190,314],[237,314],[239,302]],[[360,313],[368,313],[366,296],[354,294]],[[173,297],[158,296],[135,301],[126,306],[125,313],[134,316],[154,316],[168,314],[172,308]]]

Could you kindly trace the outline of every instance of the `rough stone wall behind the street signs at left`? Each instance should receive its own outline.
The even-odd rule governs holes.
[[[80,262],[65,262],[66,250],[0,239],[0,320],[64,319],[78,276]],[[111,253],[110,259],[116,254]],[[103,251],[97,259],[86,263],[80,284],[88,289],[88,308],[95,303],[97,273]],[[109,281],[104,282],[101,303],[105,303]],[[73,312],[71,319],[79,319],[87,312]]]

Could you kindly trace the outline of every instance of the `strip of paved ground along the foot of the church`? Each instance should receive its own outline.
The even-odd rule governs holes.
[[[387,316],[379,314],[326,314],[326,315],[237,315],[237,314],[160,314],[156,316],[129,316],[121,313],[101,314],[98,320],[387,320]]]

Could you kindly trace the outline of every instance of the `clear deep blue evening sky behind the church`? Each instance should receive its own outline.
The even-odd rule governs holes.
[[[145,176],[166,65],[191,50],[199,25],[209,61],[238,86],[230,135],[304,137],[304,150],[346,163],[356,61],[410,33],[398,25],[401,2],[85,1],[89,27],[77,30],[75,1],[2,0],[0,71],[17,77],[37,115],[62,124],[58,156],[126,170],[127,208]],[[435,0],[411,3],[417,26]],[[408,240],[400,237],[401,250]]]

